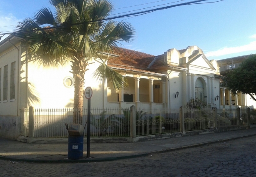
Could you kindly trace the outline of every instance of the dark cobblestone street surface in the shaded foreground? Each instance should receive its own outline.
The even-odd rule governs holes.
[[[110,162],[54,164],[0,160],[0,166],[1,177],[255,177],[256,138]]]

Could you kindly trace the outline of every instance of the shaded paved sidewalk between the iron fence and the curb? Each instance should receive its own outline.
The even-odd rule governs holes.
[[[206,135],[168,138],[135,143],[91,143],[90,157],[82,160],[68,160],[68,144],[28,144],[0,139],[0,160],[26,162],[97,162],[149,155],[153,152],[166,152],[182,148],[208,145],[215,142],[256,136],[256,128],[236,130]]]

